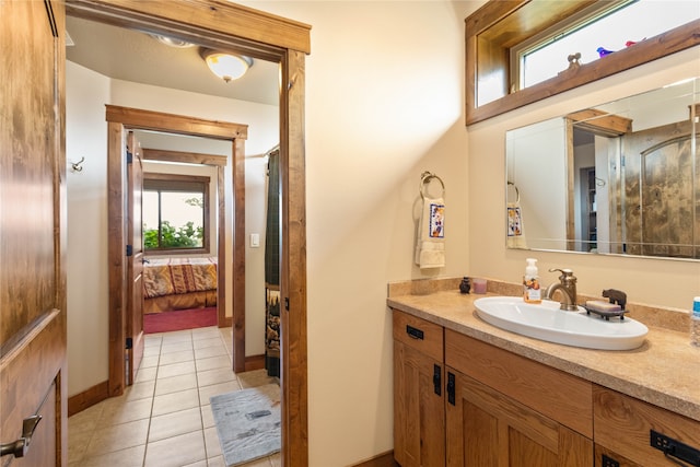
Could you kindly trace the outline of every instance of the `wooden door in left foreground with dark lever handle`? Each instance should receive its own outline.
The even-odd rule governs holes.
[[[0,464],[67,465],[63,4],[0,1]]]

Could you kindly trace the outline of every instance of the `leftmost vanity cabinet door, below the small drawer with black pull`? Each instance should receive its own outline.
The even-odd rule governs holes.
[[[394,457],[402,467],[445,465],[443,366],[394,340]]]

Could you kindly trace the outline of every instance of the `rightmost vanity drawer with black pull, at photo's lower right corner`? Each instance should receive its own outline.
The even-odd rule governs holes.
[[[700,422],[598,385],[593,417],[596,444],[639,465],[678,466],[650,445],[651,430],[700,450]]]

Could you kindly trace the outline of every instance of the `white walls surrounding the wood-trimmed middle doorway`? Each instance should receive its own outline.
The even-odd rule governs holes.
[[[84,170],[68,164],[68,395],[74,396],[108,378],[107,276],[107,124],[105,104],[189,115],[248,125],[246,141],[246,231],[260,232],[259,186],[265,184],[261,155],[278,143],[276,106],[147,86],[66,66],[66,154],[69,162],[85,156]],[[184,150],[183,147],[179,148]],[[190,148],[195,151],[194,148]],[[229,152],[230,153],[230,152]],[[225,168],[226,238],[232,245],[232,168]],[[246,233],[246,236],[247,236]],[[262,248],[246,247],[246,354],[265,352],[265,281]],[[259,264],[258,264],[259,262]],[[232,264],[228,248],[226,265]],[[228,271],[226,277],[232,277]],[[226,289],[231,310],[231,282]]]

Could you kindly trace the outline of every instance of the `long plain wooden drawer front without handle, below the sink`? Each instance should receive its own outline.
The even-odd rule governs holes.
[[[592,383],[445,329],[445,364],[593,437]]]

